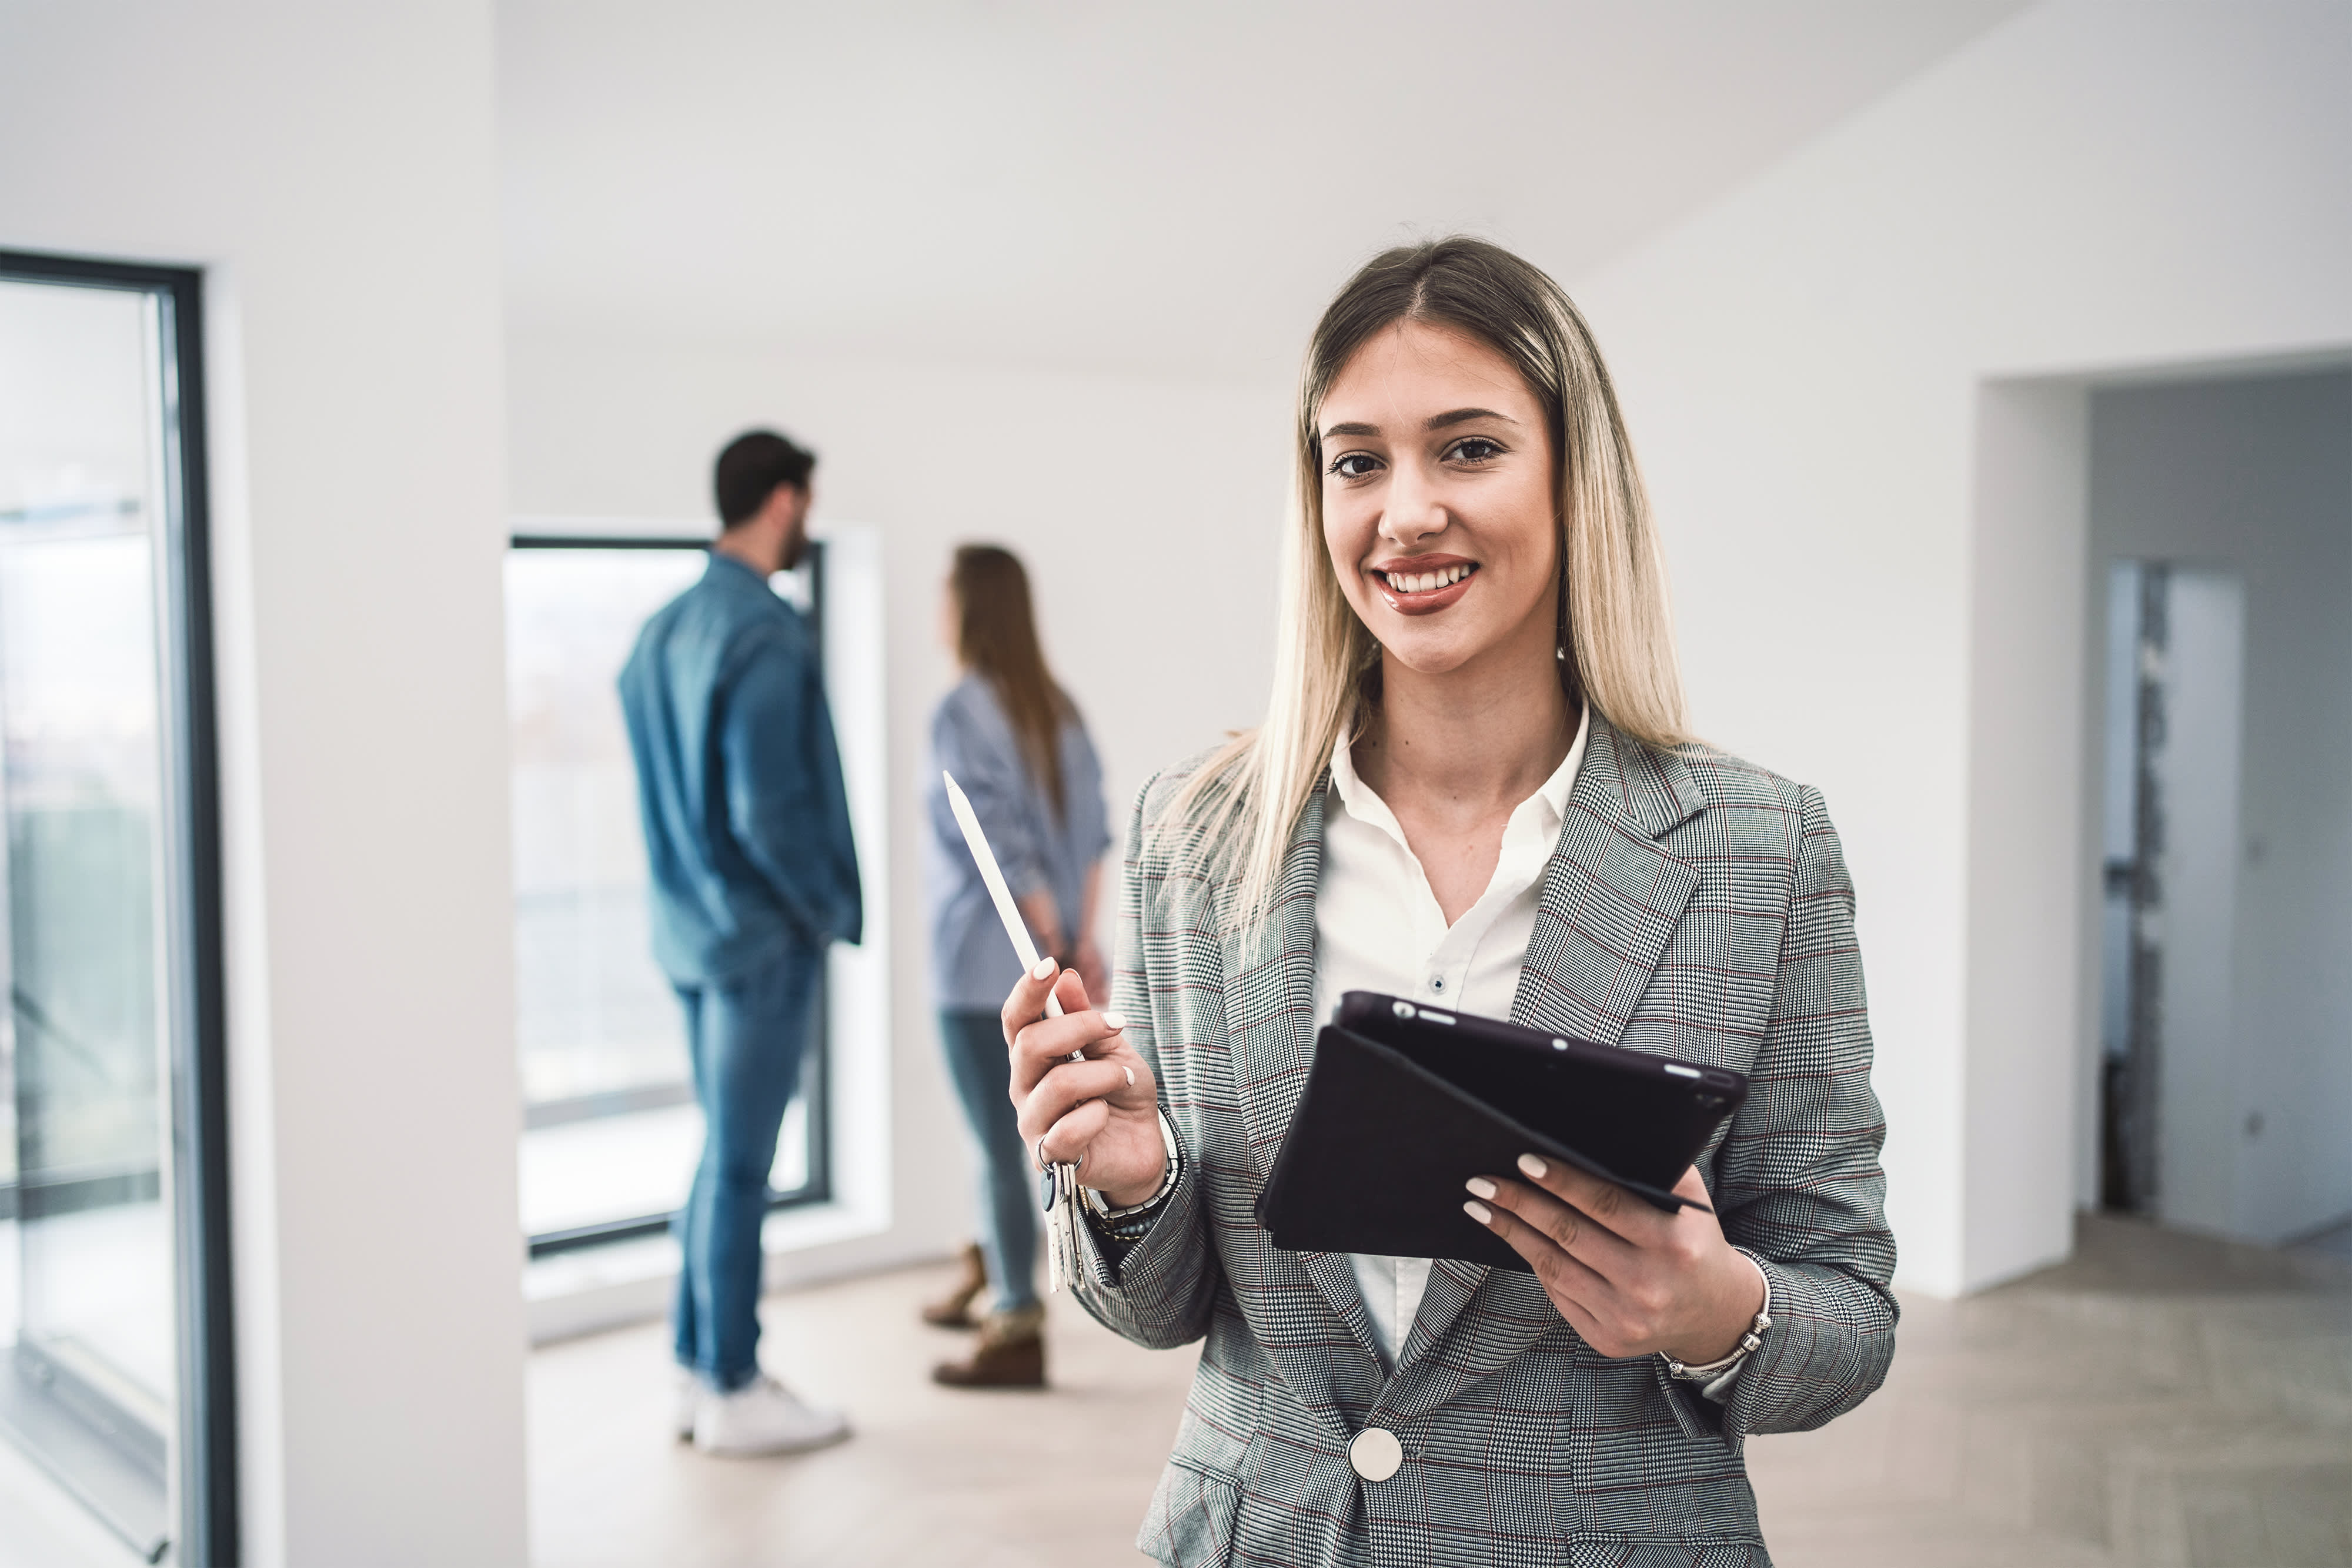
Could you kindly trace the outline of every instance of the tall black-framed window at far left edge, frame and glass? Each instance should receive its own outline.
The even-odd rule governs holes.
[[[0,254],[0,1434],[233,1561],[198,277]]]

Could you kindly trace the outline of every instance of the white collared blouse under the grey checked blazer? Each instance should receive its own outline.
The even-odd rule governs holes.
[[[1388,802],[1357,776],[1350,736],[1341,736],[1331,752],[1322,886],[1315,891],[1317,1018],[1331,1018],[1341,994],[1352,990],[1510,1018],[1526,940],[1536,933],[1543,867],[1566,820],[1588,731],[1590,710],[1576,722],[1576,743],[1559,769],[1512,809],[1494,879],[1451,926]],[[1371,1338],[1383,1363],[1395,1368],[1430,1284],[1430,1260],[1352,1253],[1350,1262],[1371,1314]]]

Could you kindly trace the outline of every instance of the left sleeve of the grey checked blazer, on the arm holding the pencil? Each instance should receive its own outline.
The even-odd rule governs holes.
[[[1150,1349],[1174,1349],[1209,1333],[1218,1265],[1209,1246],[1197,1138],[1185,1126],[1181,1105],[1171,1098],[1176,1091],[1160,1060],[1152,997],[1160,990],[1171,990],[1174,978],[1162,976],[1162,987],[1152,985],[1150,945],[1143,940],[1143,907],[1150,886],[1150,865],[1143,846],[1145,802],[1150,795],[1152,785],[1145,785],[1136,797],[1136,811],[1127,825],[1127,865],[1120,891],[1120,936],[1110,994],[1117,1009],[1127,1013],[1127,1044],[1152,1065],[1152,1077],[1160,1081],[1160,1107],[1169,1112],[1169,1126],[1176,1128],[1183,1147],[1183,1175],[1141,1241],[1115,1251],[1103,1244],[1091,1225],[1082,1222],[1077,1227],[1082,1253],[1077,1300],[1112,1333]]]

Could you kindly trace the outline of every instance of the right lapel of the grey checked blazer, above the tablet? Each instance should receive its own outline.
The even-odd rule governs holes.
[[[1559,846],[1543,872],[1536,931],[1510,1001],[1512,1023],[1618,1044],[1698,886],[1698,870],[1658,839],[1703,804],[1682,757],[1628,741],[1592,715]],[[1444,1387],[1432,1385],[1428,1406],[1421,1399],[1416,1406],[1444,1403],[1454,1387],[1496,1371],[1557,1319],[1531,1274],[1439,1258],[1397,1354],[1397,1375],[1414,1368],[1479,1295],[1489,1309],[1477,1333],[1432,1361]]]

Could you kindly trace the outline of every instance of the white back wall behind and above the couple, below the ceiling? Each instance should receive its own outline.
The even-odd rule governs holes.
[[[781,1269],[811,1279],[943,1253],[974,1222],[931,1016],[920,853],[929,717],[953,679],[936,642],[948,552],[981,538],[1028,562],[1047,658],[1087,715],[1124,835],[1152,771],[1261,717],[1289,404],[1261,390],[842,360],[760,341],[508,339],[517,515],[710,515],[710,458],[757,423],[816,449],[818,517],[880,529],[889,616],[889,922],[868,926],[889,943],[891,973],[889,1229],[811,1246]],[[1105,924],[1110,912],[1105,898]],[[774,1354],[790,1368],[802,1352]]]

